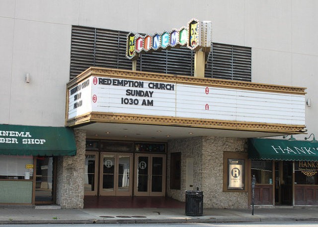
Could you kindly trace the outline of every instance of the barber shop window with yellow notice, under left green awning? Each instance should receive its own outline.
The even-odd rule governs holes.
[[[1,155],[0,179],[32,179],[33,156]]]

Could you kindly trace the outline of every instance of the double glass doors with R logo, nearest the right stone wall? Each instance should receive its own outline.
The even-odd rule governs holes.
[[[134,194],[165,195],[165,155],[136,154]]]

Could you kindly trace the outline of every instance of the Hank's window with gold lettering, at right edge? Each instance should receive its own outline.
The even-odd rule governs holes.
[[[295,162],[295,184],[318,184],[317,173],[318,162]]]

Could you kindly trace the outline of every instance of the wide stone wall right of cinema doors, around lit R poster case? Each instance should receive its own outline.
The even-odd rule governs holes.
[[[223,192],[223,152],[246,152],[247,140],[195,137],[168,142],[167,196],[185,201],[186,158],[194,158],[194,188],[203,191],[204,208],[248,208],[247,192]],[[170,189],[170,153],[181,152],[181,190]]]

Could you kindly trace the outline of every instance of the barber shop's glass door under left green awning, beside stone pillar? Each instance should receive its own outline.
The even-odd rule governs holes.
[[[53,157],[36,158],[35,204],[52,204],[55,202],[56,162]]]

